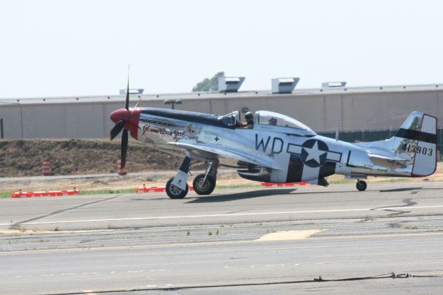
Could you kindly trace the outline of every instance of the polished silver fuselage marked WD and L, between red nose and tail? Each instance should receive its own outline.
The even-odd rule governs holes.
[[[217,161],[236,168],[251,168],[251,163],[255,163],[262,169],[243,170],[240,175],[259,181],[315,181],[334,173],[350,178],[367,175],[409,177],[413,166],[413,161],[377,162],[370,159],[368,145],[346,143],[318,134],[298,134],[296,129],[262,125],[255,125],[253,129],[220,127],[143,111],[138,121],[138,140],[156,150],[197,161]],[[394,145],[387,148],[382,143],[375,144],[380,152],[395,150]],[[186,149],[184,145],[202,149]],[[242,157],[250,161],[242,161]],[[302,172],[297,171],[300,167],[304,167]]]

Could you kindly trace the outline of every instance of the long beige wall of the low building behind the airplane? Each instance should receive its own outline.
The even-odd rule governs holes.
[[[437,116],[443,125],[443,91],[318,93],[264,96],[220,94],[217,98],[186,98],[176,109],[226,114],[248,107],[286,114],[316,132],[397,129],[412,111]],[[135,103],[135,102],[134,102]],[[131,105],[134,105],[131,102]],[[104,138],[114,125],[109,114],[122,102],[0,105],[5,138]],[[163,98],[144,97],[143,107],[169,107]]]

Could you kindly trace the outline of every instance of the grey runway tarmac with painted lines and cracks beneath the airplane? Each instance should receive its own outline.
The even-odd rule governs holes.
[[[0,293],[438,294],[442,201],[426,181],[1,199]]]

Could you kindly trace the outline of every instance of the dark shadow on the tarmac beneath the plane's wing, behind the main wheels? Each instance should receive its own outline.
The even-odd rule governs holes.
[[[275,190],[253,190],[244,193],[233,193],[227,195],[208,195],[202,197],[195,197],[192,201],[186,202],[186,204],[194,204],[194,203],[215,203],[215,202],[230,202],[236,199],[251,199],[253,197],[268,197],[270,195],[284,195],[289,194],[297,190],[296,188],[287,188],[287,189],[275,189]]]

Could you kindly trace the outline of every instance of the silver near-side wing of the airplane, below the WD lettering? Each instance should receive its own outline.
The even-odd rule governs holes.
[[[189,152],[203,152],[206,157],[218,158],[224,157],[235,161],[243,161],[266,168],[272,168],[273,161],[268,157],[260,156],[257,154],[246,154],[242,150],[227,149],[218,145],[199,145],[190,143],[168,143],[181,147]]]

